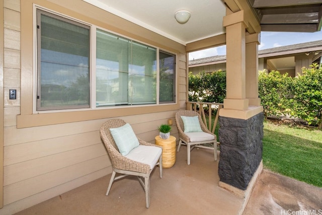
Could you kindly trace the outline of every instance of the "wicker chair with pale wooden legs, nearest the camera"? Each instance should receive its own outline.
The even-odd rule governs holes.
[[[141,163],[144,161],[144,155],[141,154],[137,155],[138,159],[131,160],[123,156],[114,141],[114,138],[112,136],[112,133],[110,131],[110,128],[118,128],[123,125],[125,125],[125,121],[122,119],[111,119],[106,121],[102,124],[100,129],[101,138],[104,142],[104,145],[107,149],[107,152],[110,156],[112,167],[113,167],[113,173],[110,179],[110,183],[106,192],[106,195],[109,194],[111,186],[115,180],[118,180],[120,178],[123,178],[127,175],[135,175],[138,177],[139,182],[143,186],[145,190],[145,201],[146,201],[146,208],[149,207],[149,181],[150,181],[150,174],[155,166],[159,166],[160,171],[160,178],[162,178],[162,147],[150,144],[148,142],[145,142],[144,140],[138,138],[139,146],[137,148],[140,148],[140,146],[149,146],[149,147],[156,147],[157,150],[149,149],[146,147],[143,147],[144,149],[152,150],[153,152],[145,152],[145,154],[148,154],[145,157],[151,157],[153,159],[153,162],[149,162],[149,164]],[[142,147],[141,147],[142,149]],[[134,151],[134,150],[132,150]],[[155,153],[157,151],[157,153]],[[130,155],[131,152],[128,154]],[[154,158],[153,158],[154,156]],[[157,156],[157,157],[155,157]],[[155,163],[155,164],[154,164]],[[151,166],[153,165],[153,166]],[[116,173],[120,173],[122,175],[115,177]],[[144,178],[144,182],[142,181],[142,178]]]

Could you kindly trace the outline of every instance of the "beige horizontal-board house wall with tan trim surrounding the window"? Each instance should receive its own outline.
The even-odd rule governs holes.
[[[33,114],[33,3],[177,53],[177,104]],[[81,0],[4,0],[4,208],[0,214],[20,211],[109,174],[111,163],[99,134],[107,118],[123,118],[139,137],[153,143],[157,126],[185,108],[186,68],[185,46]],[[9,89],[17,89],[17,100],[9,100]],[[172,135],[177,136],[175,125]]]

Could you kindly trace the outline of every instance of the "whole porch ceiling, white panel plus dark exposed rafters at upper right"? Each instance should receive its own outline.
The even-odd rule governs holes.
[[[321,29],[321,0],[83,0],[121,18],[164,35],[181,44],[225,33],[222,20],[226,7],[244,10],[261,25],[262,31],[314,32]],[[175,20],[175,13],[187,10],[186,24]],[[254,33],[249,31],[250,33]]]

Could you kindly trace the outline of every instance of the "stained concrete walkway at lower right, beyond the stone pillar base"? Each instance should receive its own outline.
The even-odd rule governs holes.
[[[243,213],[253,214],[322,214],[322,189],[263,170]]]

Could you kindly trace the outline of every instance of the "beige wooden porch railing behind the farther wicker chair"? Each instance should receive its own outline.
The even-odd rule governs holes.
[[[208,107],[208,114],[206,116],[205,113],[205,107]],[[187,110],[194,110],[196,112],[199,112],[203,122],[207,126],[208,130],[210,130],[212,133],[215,133],[215,129],[217,126],[218,118],[219,118],[219,110],[220,108],[223,108],[222,103],[210,103],[210,102],[187,102]],[[212,124],[212,117],[213,117],[213,111],[217,110],[215,120]],[[208,123],[206,120],[206,117],[208,117]]]

